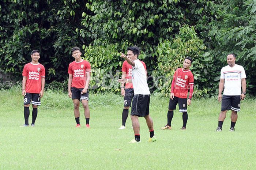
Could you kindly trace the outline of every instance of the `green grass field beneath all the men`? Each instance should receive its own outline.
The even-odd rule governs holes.
[[[35,127],[24,124],[20,88],[0,91],[1,170],[255,170],[256,102],[241,103],[236,132],[229,132],[230,112],[223,132],[215,132],[220,103],[216,99],[193,100],[188,107],[187,131],[180,131],[181,113],[174,111],[171,131],[166,124],[168,98],[151,97],[150,114],[157,142],[147,143],[146,121],[140,118],[142,142],[133,139],[131,120],[121,125],[123,98],[90,95],[91,129],[75,128],[72,101],[67,94],[48,91],[42,98]],[[82,107],[80,109],[82,112]],[[82,112],[83,113],[83,112]],[[30,120],[31,123],[31,112]]]

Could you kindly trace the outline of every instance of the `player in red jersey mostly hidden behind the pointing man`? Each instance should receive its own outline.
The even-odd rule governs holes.
[[[140,61],[140,62],[143,64],[147,72],[146,64],[143,61]],[[132,78],[132,66],[128,64],[128,62],[125,60],[122,66],[122,79],[131,79],[131,78]],[[122,113],[122,125],[120,126],[119,129],[125,129],[125,123],[128,118],[129,108],[132,103],[132,98],[134,97],[132,83],[128,82],[128,83],[121,84],[121,95],[124,97],[124,109]]]

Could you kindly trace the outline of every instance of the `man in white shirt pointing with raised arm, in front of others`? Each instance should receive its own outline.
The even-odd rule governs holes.
[[[132,83],[134,97],[132,99],[132,128],[135,139],[129,143],[140,142],[140,124],[139,117],[144,117],[150,132],[149,142],[154,142],[157,138],[154,135],[153,121],[149,115],[150,91],[147,84],[146,70],[142,61],[138,59],[140,49],[137,46],[132,46],[127,49],[127,56],[121,53],[121,57],[132,65],[132,79],[119,79],[120,83]]]

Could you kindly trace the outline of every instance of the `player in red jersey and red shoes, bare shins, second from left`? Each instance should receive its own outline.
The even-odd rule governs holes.
[[[89,83],[91,79],[91,65],[88,61],[81,58],[81,50],[78,47],[71,49],[72,57],[75,61],[68,66],[68,96],[72,98],[74,103],[74,115],[76,120],[76,127],[80,128],[80,112],[79,101],[84,108],[84,116],[86,119],[86,127],[90,128],[90,110],[88,106],[89,101]]]

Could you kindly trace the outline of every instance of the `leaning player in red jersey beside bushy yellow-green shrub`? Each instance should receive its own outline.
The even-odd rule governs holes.
[[[173,118],[173,110],[176,109],[177,103],[179,104],[179,111],[182,112],[183,126],[181,130],[186,130],[188,121],[187,105],[191,104],[193,87],[194,87],[194,76],[189,70],[193,60],[191,57],[186,57],[183,62],[183,68],[178,68],[172,80],[172,87],[170,92],[169,110],[167,113],[167,125],[161,129],[172,129],[171,122]],[[189,89],[189,98],[188,97]]]

